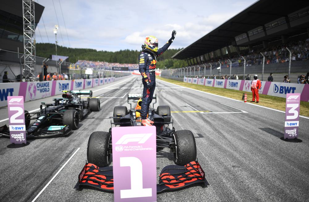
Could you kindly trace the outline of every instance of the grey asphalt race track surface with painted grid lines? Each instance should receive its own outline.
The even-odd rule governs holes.
[[[13,147],[8,138],[0,138],[0,201],[32,201],[57,172],[36,201],[113,201],[111,193],[76,191],[74,186],[87,158],[89,135],[108,131],[114,106],[129,108],[126,95],[142,92],[141,78],[132,76],[91,90],[100,97],[101,110],[91,112],[69,136],[28,140],[30,144],[20,148]],[[171,107],[176,130],[189,129],[195,135],[198,160],[210,183],[206,188],[161,193],[158,201],[308,201],[309,119],[299,120],[302,142],[287,142],[280,139],[282,112],[158,79],[155,93],[156,106]],[[51,100],[27,102],[25,109],[35,110],[41,102]],[[0,114],[0,121],[7,118],[7,108],[1,108]],[[168,149],[158,153],[158,175],[171,164]]]

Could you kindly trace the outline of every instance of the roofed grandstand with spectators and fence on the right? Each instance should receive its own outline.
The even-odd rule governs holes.
[[[289,74],[295,83],[300,74],[309,72],[308,27],[308,1],[287,6],[278,0],[260,0],[172,56],[186,60],[188,66],[162,75],[236,74],[243,79],[258,74],[267,80],[273,72],[274,81],[282,82]]]

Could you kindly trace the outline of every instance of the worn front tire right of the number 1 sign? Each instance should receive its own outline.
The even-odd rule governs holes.
[[[177,165],[184,166],[196,160],[196,144],[193,133],[189,130],[178,130],[173,134],[176,152],[174,161]]]

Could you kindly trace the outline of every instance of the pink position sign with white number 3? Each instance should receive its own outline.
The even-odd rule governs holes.
[[[287,93],[284,139],[294,139],[298,137],[299,107],[300,93]]]

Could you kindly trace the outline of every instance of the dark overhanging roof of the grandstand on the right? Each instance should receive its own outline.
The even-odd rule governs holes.
[[[289,4],[282,0],[259,0],[172,58],[191,59],[231,45],[261,45],[307,32],[308,27],[308,0]]]

